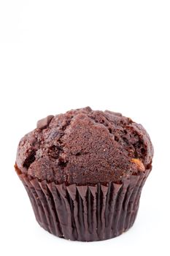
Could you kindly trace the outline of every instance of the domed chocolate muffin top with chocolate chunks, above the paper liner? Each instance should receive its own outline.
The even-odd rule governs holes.
[[[18,145],[15,168],[57,184],[96,184],[152,168],[153,148],[141,124],[109,110],[47,116]]]

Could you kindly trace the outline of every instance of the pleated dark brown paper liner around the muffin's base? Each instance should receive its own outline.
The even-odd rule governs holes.
[[[136,218],[139,198],[150,170],[123,184],[55,184],[18,174],[28,192],[39,225],[55,236],[99,241],[128,230]]]

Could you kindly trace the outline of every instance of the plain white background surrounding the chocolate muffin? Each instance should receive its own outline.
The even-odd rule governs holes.
[[[0,0],[0,255],[170,255],[169,1]],[[48,114],[90,105],[142,123],[155,148],[134,227],[108,241],[36,223],[13,165]]]

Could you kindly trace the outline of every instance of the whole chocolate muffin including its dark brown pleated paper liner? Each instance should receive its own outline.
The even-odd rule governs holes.
[[[20,140],[15,170],[39,225],[62,238],[98,241],[134,224],[152,156],[141,124],[88,107],[38,121]]]

